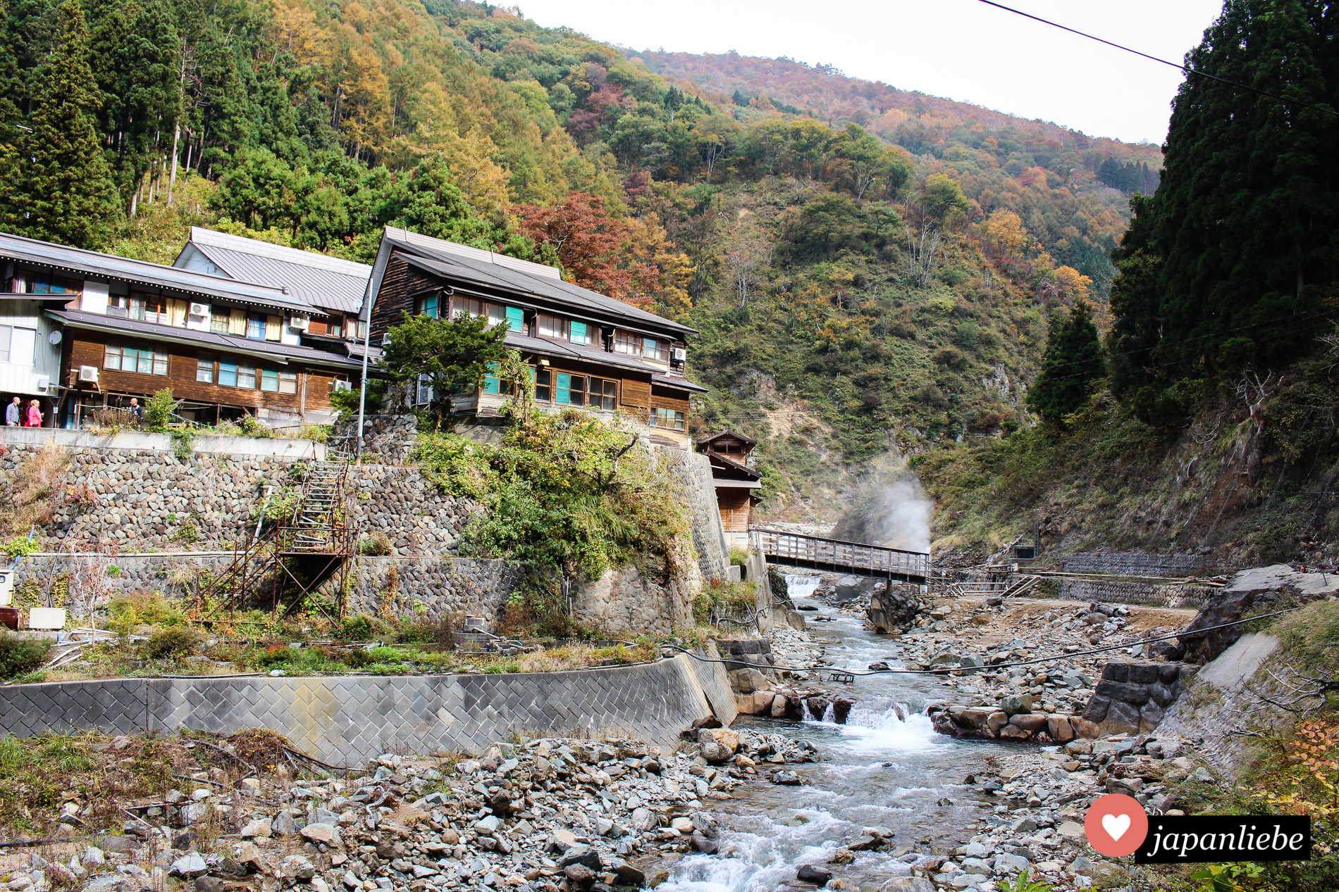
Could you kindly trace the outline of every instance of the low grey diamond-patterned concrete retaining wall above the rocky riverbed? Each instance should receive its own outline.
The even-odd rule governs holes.
[[[730,707],[722,721],[734,717],[719,670],[719,663],[679,655],[570,673],[19,685],[0,687],[0,730],[29,737],[92,728],[269,728],[343,765],[387,750],[478,750],[516,732],[612,733],[668,748],[694,719],[710,715],[718,699]]]

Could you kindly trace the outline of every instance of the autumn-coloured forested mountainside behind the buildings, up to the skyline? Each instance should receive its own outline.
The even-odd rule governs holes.
[[[890,447],[1026,425],[1048,317],[1105,304],[1127,198],[1099,178],[1157,166],[913,94],[874,132],[739,104],[455,0],[11,0],[3,24],[4,229],[370,259],[395,223],[556,263],[702,329],[695,424],[758,436],[797,516]]]

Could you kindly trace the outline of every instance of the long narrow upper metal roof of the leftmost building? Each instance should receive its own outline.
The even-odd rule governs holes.
[[[225,301],[300,313],[311,313],[316,309],[304,300],[292,294],[284,294],[277,288],[240,282],[221,275],[209,275],[175,266],[150,263],[149,261],[135,261],[129,257],[116,257],[115,254],[88,251],[82,247],[67,247],[66,245],[11,235],[8,233],[0,233],[0,257],[78,273],[84,278],[92,280],[118,280],[138,285],[153,285],[182,294],[217,297]]]

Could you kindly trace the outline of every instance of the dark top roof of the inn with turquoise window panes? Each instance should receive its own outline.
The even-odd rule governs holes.
[[[415,262],[416,266],[439,275],[558,301],[578,312],[584,309],[611,321],[621,320],[633,326],[653,326],[680,336],[698,333],[696,329],[687,325],[639,310],[599,292],[564,282],[552,266],[518,261],[391,226],[386,227],[383,242],[388,242],[395,251]]]

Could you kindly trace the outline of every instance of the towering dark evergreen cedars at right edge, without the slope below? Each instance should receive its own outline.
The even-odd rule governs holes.
[[[1228,0],[1173,103],[1156,197],[1115,262],[1113,385],[1146,420],[1184,378],[1285,362],[1339,278],[1339,12],[1324,0]]]

